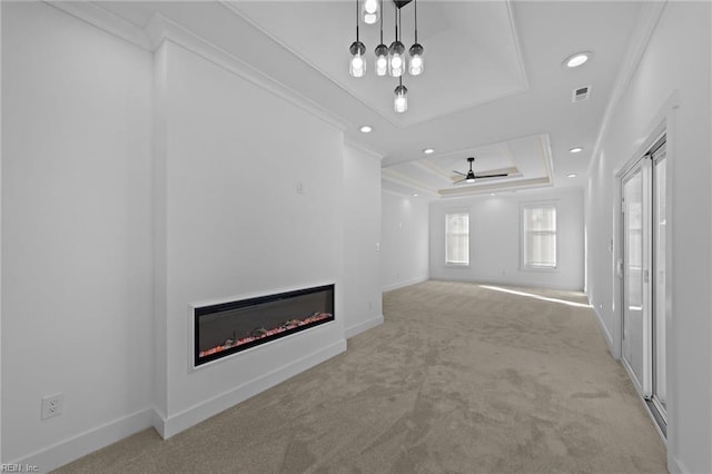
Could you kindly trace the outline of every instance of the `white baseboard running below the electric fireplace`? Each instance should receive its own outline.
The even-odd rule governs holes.
[[[204,402],[200,402],[180,413],[161,417],[156,413],[154,427],[164,437],[168,440],[176,434],[188,429],[196,424],[208,419],[211,416],[224,412],[240,402],[250,398],[260,392],[274,387],[275,385],[300,374],[317,364],[320,364],[346,350],[346,339],[340,339],[327,347],[315,353],[291,362],[276,371],[267,373],[258,378],[249,381],[236,388],[224,392]]]

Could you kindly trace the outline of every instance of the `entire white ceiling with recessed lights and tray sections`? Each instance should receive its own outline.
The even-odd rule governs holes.
[[[384,189],[463,196],[532,187],[583,186],[597,131],[640,1],[418,0],[426,68],[404,77],[409,105],[393,111],[397,81],[376,77],[379,24],[359,26],[369,70],[348,75],[356,1],[99,1],[145,29],[156,13],[219,47],[344,124],[347,140],[384,157]],[[384,42],[394,39],[394,6],[384,0]],[[402,39],[414,41],[414,7],[402,9]],[[593,51],[567,69],[566,57]],[[573,90],[590,98],[572,102]],[[266,111],[268,112],[268,111]],[[373,127],[359,132],[363,125]],[[571,147],[583,147],[576,155]],[[424,155],[425,148],[434,148]],[[454,185],[452,170],[515,169],[503,179]],[[575,174],[573,178],[567,176]]]

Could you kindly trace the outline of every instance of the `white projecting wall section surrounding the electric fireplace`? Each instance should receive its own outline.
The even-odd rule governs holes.
[[[157,408],[171,436],[346,348],[344,138],[172,41],[156,63]],[[190,304],[325,283],[335,322],[189,371]]]

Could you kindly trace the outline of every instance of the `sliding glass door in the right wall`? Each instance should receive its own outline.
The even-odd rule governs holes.
[[[661,138],[622,179],[623,363],[666,423],[666,154]]]

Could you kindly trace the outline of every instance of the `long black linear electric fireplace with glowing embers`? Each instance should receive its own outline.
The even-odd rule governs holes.
[[[334,320],[334,285],[194,307],[195,366]]]

